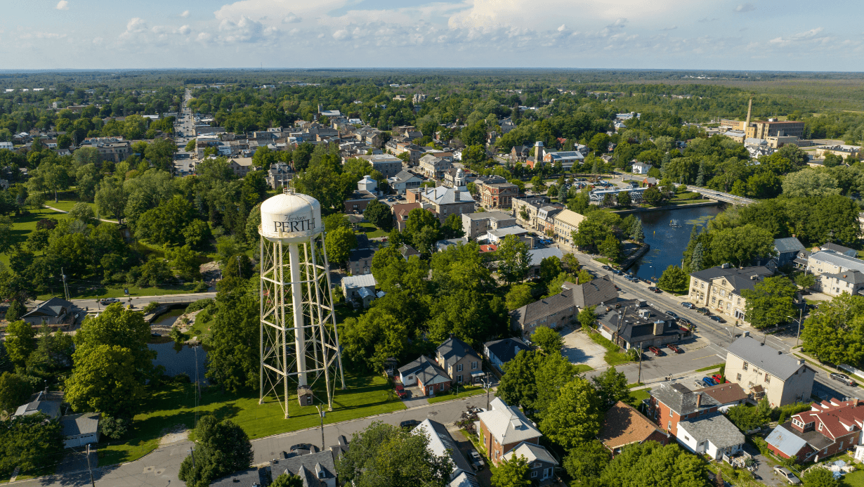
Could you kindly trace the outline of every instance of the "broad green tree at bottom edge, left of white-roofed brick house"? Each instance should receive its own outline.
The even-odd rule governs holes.
[[[357,487],[444,487],[453,463],[429,450],[425,433],[375,421],[354,433],[351,448],[336,461],[340,478]]]

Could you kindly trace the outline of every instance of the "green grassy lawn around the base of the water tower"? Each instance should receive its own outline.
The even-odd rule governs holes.
[[[340,390],[337,384],[334,410],[327,413],[325,423],[404,409],[390,383],[379,375],[356,376],[346,373],[346,386],[345,390]],[[326,397],[323,392],[321,394]],[[204,388],[201,392],[199,417],[204,413],[213,413],[222,420],[232,420],[243,428],[250,439],[320,424],[317,409],[313,406],[298,406],[296,396],[289,400],[290,418],[285,420],[282,409],[273,397],[268,397],[264,404],[258,405],[257,392],[228,394],[218,386]],[[175,426],[191,429],[194,422],[194,385],[162,385],[156,388],[152,397],[144,403],[143,412],[135,416],[128,438],[99,443],[99,465],[114,465],[141,458],[156,449],[159,439],[168,430]]]

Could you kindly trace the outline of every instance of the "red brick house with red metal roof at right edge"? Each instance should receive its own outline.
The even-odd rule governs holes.
[[[860,445],[862,428],[864,400],[823,400],[774,428],[766,443],[778,457],[818,461]]]

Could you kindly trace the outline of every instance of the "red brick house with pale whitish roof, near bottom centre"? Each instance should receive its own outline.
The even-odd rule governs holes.
[[[499,465],[505,453],[520,443],[539,445],[543,433],[534,426],[518,407],[507,406],[496,397],[489,403],[489,410],[477,414],[477,433],[480,442],[486,447],[493,465]]]

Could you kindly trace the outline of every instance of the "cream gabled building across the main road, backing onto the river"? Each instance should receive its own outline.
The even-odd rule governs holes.
[[[717,266],[690,274],[689,300],[699,307],[706,307],[717,314],[746,322],[746,299],[741,291],[753,289],[772,272],[765,266],[735,267]]]

